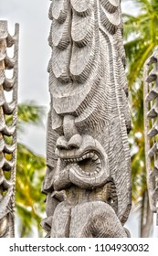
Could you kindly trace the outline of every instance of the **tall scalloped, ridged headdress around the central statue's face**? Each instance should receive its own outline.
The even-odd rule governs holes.
[[[120,0],[52,1],[48,38],[52,124],[47,133],[54,138],[62,135],[63,117],[70,114],[80,134],[88,133],[100,142],[108,155],[118,196],[117,216],[123,224],[131,208],[127,139],[131,123],[120,5]],[[54,140],[47,141],[50,162]]]

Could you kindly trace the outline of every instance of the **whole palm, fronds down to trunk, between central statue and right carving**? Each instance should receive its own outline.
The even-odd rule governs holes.
[[[142,210],[141,236],[147,237],[153,214],[148,203],[144,164],[142,69],[145,60],[158,46],[158,1],[133,0],[133,5],[139,8],[139,14],[124,14],[127,78],[132,97],[132,199]]]

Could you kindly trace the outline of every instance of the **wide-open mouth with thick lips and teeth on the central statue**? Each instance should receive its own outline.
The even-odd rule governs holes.
[[[58,148],[57,155],[54,180],[57,190],[70,184],[83,188],[98,187],[104,185],[110,176],[108,156],[90,135],[82,135],[79,148]]]

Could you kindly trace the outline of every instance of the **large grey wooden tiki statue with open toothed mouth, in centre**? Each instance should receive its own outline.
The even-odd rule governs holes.
[[[127,237],[131,123],[120,0],[52,0],[47,237]]]

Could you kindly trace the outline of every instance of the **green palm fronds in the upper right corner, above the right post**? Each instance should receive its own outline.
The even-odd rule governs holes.
[[[156,0],[133,0],[138,16],[124,15],[124,39],[128,60],[130,89],[142,77],[145,60],[158,45],[158,3]]]

